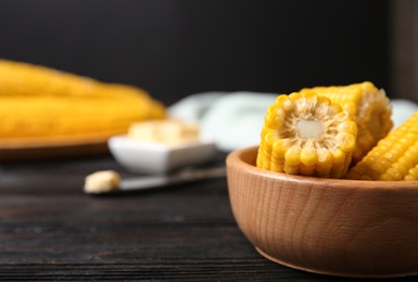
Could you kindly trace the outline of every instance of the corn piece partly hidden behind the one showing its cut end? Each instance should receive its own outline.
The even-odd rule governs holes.
[[[353,115],[358,128],[353,164],[360,161],[392,129],[389,99],[384,90],[377,89],[369,81],[349,86],[314,87],[302,89],[301,92],[307,90],[328,97]]]

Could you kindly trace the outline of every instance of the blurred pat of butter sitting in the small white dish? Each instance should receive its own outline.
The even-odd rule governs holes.
[[[199,140],[200,127],[197,123],[177,119],[148,120],[132,124],[127,137],[163,143],[190,142]]]

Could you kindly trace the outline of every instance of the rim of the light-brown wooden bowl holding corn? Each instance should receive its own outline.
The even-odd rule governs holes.
[[[242,158],[245,155],[254,154],[258,145],[246,146],[235,150],[227,155],[227,166],[235,167],[244,174],[265,177],[277,180],[294,181],[299,183],[309,184],[332,184],[333,188],[349,188],[349,189],[369,189],[369,190],[415,190],[418,191],[418,181],[378,181],[378,180],[352,180],[352,179],[332,179],[318,178],[300,175],[288,175],[284,172],[276,172],[263,168],[258,168],[255,164],[244,162]]]

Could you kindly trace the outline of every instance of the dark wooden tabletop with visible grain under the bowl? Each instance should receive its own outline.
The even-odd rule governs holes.
[[[131,176],[109,155],[0,165],[0,280],[352,280],[258,255],[235,222],[225,178],[85,194],[85,177],[103,169]]]

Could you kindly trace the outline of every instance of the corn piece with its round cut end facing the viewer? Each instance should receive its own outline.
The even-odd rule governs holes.
[[[259,168],[342,178],[357,136],[353,117],[313,91],[281,94],[267,110],[256,158]]]

